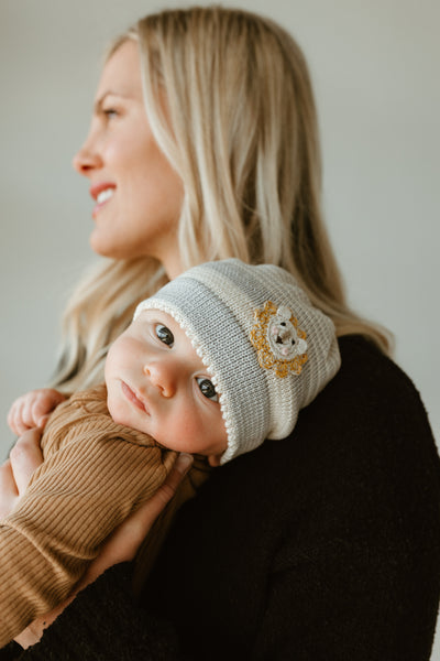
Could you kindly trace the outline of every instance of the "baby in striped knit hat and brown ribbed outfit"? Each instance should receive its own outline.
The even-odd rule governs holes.
[[[44,462],[1,522],[0,647],[70,593],[178,452],[197,460],[174,509],[209,466],[287,436],[339,367],[331,319],[277,267],[206,263],[143,301],[109,350],[106,384],[51,415]]]

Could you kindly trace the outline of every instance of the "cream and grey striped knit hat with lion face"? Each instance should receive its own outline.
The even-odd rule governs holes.
[[[238,259],[195,267],[139,304],[185,330],[209,372],[228,434],[221,464],[284,438],[338,371],[332,321],[290,273]]]

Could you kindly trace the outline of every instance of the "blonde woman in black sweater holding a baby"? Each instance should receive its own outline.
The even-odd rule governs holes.
[[[146,17],[109,52],[75,166],[97,199],[91,246],[112,262],[67,310],[59,388],[100,381],[108,345],[141,299],[226,257],[293,272],[333,318],[342,368],[290,437],[222,467],[183,508],[139,602],[131,565],[116,565],[38,644],[6,658],[429,659],[439,459],[417,392],[387,357],[387,334],[346,305],[296,43],[238,10]],[[18,431],[59,398],[44,391],[29,412],[18,404],[28,420]],[[20,490],[28,473],[12,458]],[[91,577],[133,556],[127,531]],[[36,638],[28,631],[22,642]]]

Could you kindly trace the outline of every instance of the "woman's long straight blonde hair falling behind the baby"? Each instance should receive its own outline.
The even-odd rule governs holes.
[[[388,351],[389,334],[345,301],[321,214],[314,94],[294,39],[268,19],[211,6],[147,15],[108,57],[127,40],[139,44],[152,131],[184,183],[183,267],[229,257],[284,267],[339,336],[362,334]],[[58,384],[102,380],[109,344],[165,281],[151,258],[89,275],[64,317]]]

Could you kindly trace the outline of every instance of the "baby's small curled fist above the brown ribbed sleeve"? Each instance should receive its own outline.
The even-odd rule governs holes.
[[[13,402],[8,413],[8,424],[18,436],[33,427],[43,429],[48,414],[65,399],[65,394],[52,388],[31,390]]]

